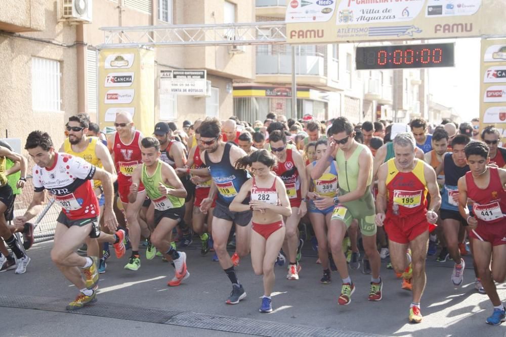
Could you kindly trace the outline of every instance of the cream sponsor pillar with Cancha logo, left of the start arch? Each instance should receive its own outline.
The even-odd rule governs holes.
[[[114,130],[120,111],[132,115],[136,129],[154,129],[154,53],[145,49],[104,49],[99,54],[99,124]]]

